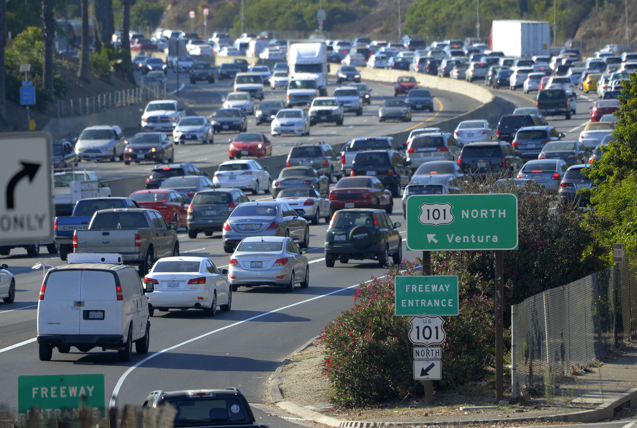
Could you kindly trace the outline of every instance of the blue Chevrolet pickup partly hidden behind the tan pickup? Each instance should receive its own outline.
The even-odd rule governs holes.
[[[66,260],[73,253],[73,232],[89,228],[90,219],[97,210],[110,208],[139,208],[131,198],[89,198],[79,200],[70,217],[56,217],[54,223],[55,242],[60,247],[60,258]]]

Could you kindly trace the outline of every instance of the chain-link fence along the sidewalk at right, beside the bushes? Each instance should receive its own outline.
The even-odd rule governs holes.
[[[637,331],[637,258],[538,293],[512,312],[516,390],[541,389]]]

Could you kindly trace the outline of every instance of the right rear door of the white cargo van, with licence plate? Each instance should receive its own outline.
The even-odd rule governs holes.
[[[82,270],[80,334],[120,334],[122,304],[115,276],[105,270]]]

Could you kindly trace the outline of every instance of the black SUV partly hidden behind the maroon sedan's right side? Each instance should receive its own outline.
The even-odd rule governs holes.
[[[410,161],[394,150],[371,150],[358,152],[352,162],[350,175],[372,175],[380,180],[392,193],[400,196],[400,189],[407,186],[412,176]]]

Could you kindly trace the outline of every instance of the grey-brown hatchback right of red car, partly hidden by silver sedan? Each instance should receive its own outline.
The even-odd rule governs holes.
[[[196,239],[200,232],[206,236],[221,232],[230,213],[243,202],[250,200],[240,189],[209,189],[197,193],[188,207],[188,237]]]

